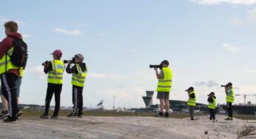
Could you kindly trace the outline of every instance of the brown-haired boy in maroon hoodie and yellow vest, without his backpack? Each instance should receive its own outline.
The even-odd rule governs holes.
[[[4,24],[4,29],[7,37],[0,44],[1,93],[10,108],[9,115],[4,119],[4,122],[17,123],[16,115],[19,115],[20,110],[17,104],[16,81],[20,73],[19,67],[10,61],[10,55],[13,52],[13,40],[21,40],[22,36],[18,33],[18,24],[15,21],[7,21]]]

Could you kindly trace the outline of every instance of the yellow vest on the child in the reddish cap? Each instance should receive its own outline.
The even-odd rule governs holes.
[[[63,83],[64,63],[60,60],[51,61],[53,70],[49,71],[47,81],[51,84]]]

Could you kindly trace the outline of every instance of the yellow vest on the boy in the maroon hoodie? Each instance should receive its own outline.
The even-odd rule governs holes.
[[[13,55],[13,47],[7,51],[9,55]],[[8,72],[10,69],[18,69],[18,67],[14,66],[12,61],[10,61],[10,56],[4,54],[4,56],[0,59],[0,75]]]

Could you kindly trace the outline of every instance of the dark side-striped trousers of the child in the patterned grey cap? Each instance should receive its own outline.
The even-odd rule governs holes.
[[[83,87],[73,86],[73,113],[77,115],[83,114]]]

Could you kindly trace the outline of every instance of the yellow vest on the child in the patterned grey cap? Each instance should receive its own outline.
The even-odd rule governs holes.
[[[78,74],[72,74],[72,85],[77,87],[84,87],[84,81],[87,77],[87,70],[82,71],[79,64],[76,64],[76,69],[78,70]]]

